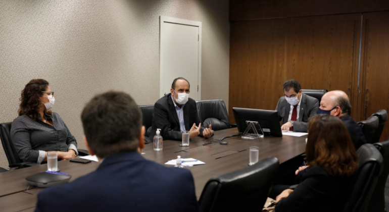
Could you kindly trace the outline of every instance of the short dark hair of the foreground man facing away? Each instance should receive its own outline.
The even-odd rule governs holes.
[[[124,92],[108,91],[94,96],[81,114],[89,147],[100,158],[136,151],[142,114],[134,99]]]

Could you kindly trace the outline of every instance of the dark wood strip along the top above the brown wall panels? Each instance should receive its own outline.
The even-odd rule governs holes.
[[[230,0],[230,21],[389,10],[387,0]]]

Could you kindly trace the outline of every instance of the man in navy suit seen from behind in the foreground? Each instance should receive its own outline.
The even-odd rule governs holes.
[[[99,168],[38,194],[35,211],[199,211],[190,171],[141,156],[144,126],[126,93],[96,95],[81,114],[84,142]]]

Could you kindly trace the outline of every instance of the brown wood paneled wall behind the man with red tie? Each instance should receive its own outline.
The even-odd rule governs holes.
[[[250,14],[257,14],[255,9],[264,3],[269,3],[274,11],[286,11],[287,6],[277,9],[276,5],[284,1],[275,1],[277,4],[243,1],[242,5],[236,6],[239,2],[231,1],[230,11],[234,12],[230,18],[238,17],[235,15],[248,3],[257,6],[249,8],[252,13],[236,19],[248,19]],[[291,2],[302,5],[310,1]],[[365,4],[365,1],[359,2]],[[370,3],[366,10],[375,10],[377,5],[389,10],[386,7],[389,1]],[[331,8],[336,4],[341,3],[328,1],[327,7],[323,7]],[[361,5],[356,11],[363,10]],[[274,16],[282,14],[274,11]],[[323,9],[322,13],[326,11]],[[231,21],[230,122],[235,123],[233,107],[274,110],[279,97],[283,96],[282,84],[287,79],[297,79],[303,89],[345,91],[350,97],[352,116],[356,121],[367,119],[380,109],[389,111],[388,13]],[[381,140],[388,136],[389,122]]]

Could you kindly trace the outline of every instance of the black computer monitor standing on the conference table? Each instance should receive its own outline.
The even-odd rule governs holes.
[[[232,108],[232,112],[239,132],[245,132],[246,121],[255,121],[259,123],[265,135],[282,137],[277,111]]]

